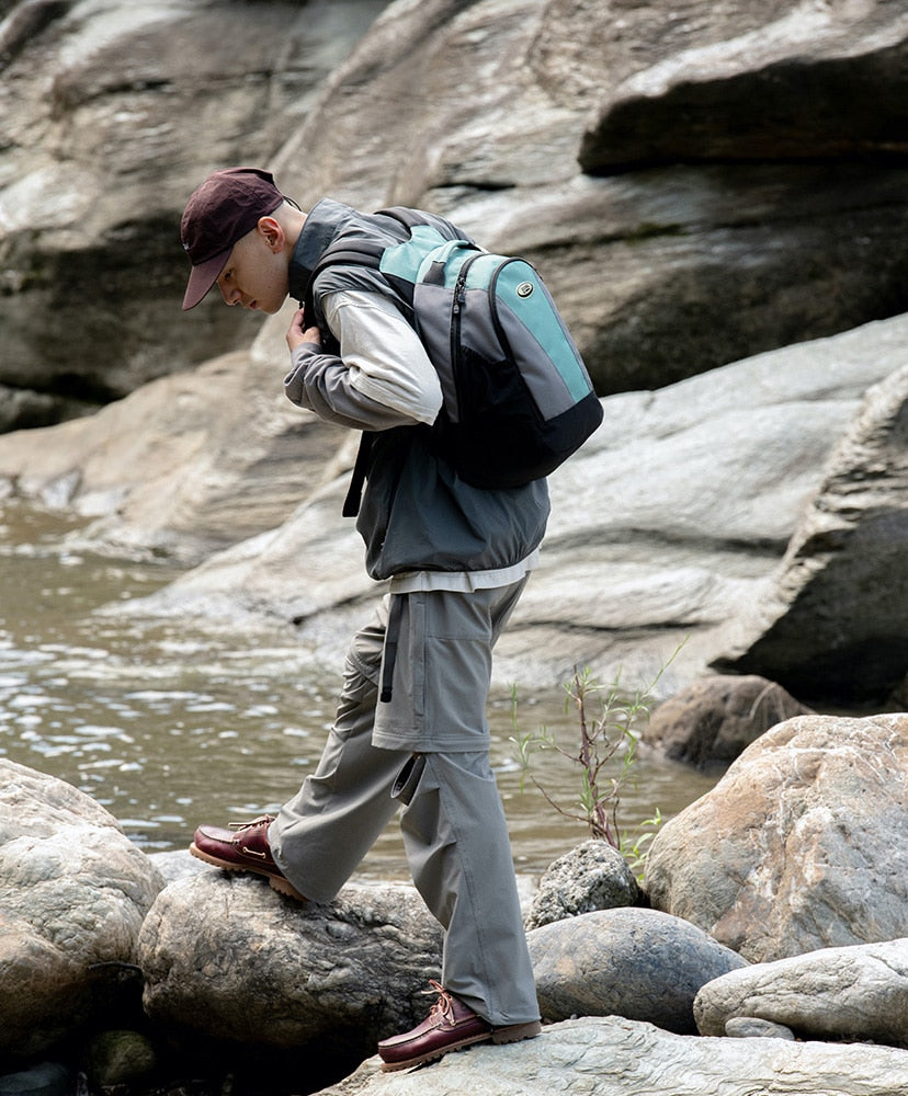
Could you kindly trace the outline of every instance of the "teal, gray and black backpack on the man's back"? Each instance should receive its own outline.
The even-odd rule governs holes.
[[[327,266],[378,270],[402,298],[441,380],[433,452],[473,487],[522,487],[547,476],[595,431],[602,406],[542,277],[525,259],[445,238],[417,210],[379,215],[402,224],[409,239],[339,240],[313,271],[309,297]],[[361,447],[345,514],[359,509],[366,465]]]

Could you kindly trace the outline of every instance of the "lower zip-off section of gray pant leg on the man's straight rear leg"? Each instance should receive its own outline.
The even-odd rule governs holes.
[[[445,929],[442,984],[495,1027],[537,1020],[508,827],[488,753],[422,754],[409,785],[401,830],[417,890]]]

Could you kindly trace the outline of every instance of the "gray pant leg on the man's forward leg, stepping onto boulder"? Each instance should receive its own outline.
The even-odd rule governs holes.
[[[398,808],[390,790],[410,754],[372,744],[386,620],[383,605],[353,638],[321,760],[269,827],[275,863],[315,902],[337,894]]]

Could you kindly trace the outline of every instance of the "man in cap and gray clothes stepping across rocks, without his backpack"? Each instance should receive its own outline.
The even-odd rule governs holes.
[[[328,198],[304,213],[268,171],[217,171],[183,214],[193,266],[183,308],[217,285],[228,305],[276,312],[287,295],[304,300],[319,258],[350,237],[394,246],[408,233]],[[287,331],[285,390],[372,439],[357,461],[366,479],[356,527],[368,573],[389,580],[389,593],[351,642],[315,773],[276,818],[201,826],[191,850],[328,902],[400,811],[413,882],[444,949],[429,1016],[378,1046],[383,1069],[399,1070],[541,1030],[485,704],[491,649],[534,563],[548,495],[544,480],[469,487],[434,455],[438,374],[384,274],[338,264],[316,282],[315,315],[298,309]]]

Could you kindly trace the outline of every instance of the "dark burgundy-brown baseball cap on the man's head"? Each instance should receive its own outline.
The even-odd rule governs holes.
[[[215,171],[193,191],[180,236],[192,262],[183,310],[195,308],[224,270],[237,240],[284,201],[274,176],[261,168]]]

